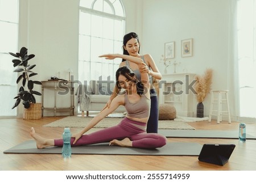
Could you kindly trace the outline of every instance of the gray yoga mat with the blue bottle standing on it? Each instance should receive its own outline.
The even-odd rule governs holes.
[[[159,129],[159,134],[167,138],[229,138],[238,139],[238,130],[172,130]],[[246,139],[256,139],[246,133]]]

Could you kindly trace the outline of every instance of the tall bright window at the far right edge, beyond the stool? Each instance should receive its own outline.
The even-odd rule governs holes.
[[[238,0],[236,15],[238,120],[242,117],[253,121],[256,118],[256,0]]]

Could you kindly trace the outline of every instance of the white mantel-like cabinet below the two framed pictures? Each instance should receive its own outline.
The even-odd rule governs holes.
[[[163,74],[159,82],[159,104],[174,105],[178,116],[193,117],[195,75],[192,73]]]

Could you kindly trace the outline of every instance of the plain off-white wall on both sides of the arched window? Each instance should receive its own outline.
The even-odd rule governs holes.
[[[160,71],[164,43],[175,41],[177,72],[203,74],[211,67],[213,89],[229,89],[227,82],[229,49],[229,11],[232,0],[122,0],[126,12],[126,32],[137,32],[141,53],[150,53]],[[79,0],[20,1],[20,43],[36,55],[35,78],[51,76],[68,79],[69,68],[77,79]],[[193,57],[181,58],[180,41],[193,38]],[[174,70],[168,67],[169,73]],[[40,88],[39,88],[40,89]],[[230,93],[232,95],[232,92]],[[38,101],[40,101],[40,97]],[[51,98],[49,98],[51,99]],[[230,99],[232,103],[232,99]],[[209,97],[204,102],[208,115]],[[232,104],[230,104],[232,105]],[[195,103],[196,107],[196,103]],[[18,111],[19,116],[21,109]],[[232,114],[235,115],[234,109]]]

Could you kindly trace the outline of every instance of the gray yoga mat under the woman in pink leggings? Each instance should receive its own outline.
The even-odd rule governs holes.
[[[200,143],[168,142],[158,149],[137,149],[132,147],[109,146],[109,143],[99,143],[88,146],[72,147],[72,154],[101,155],[196,155],[200,154]],[[5,154],[61,154],[61,147],[37,149],[34,140],[26,141],[3,151]]]

